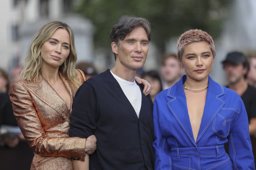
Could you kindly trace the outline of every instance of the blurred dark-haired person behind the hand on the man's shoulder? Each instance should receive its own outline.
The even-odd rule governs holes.
[[[163,90],[160,75],[156,70],[150,70],[144,72],[142,74],[142,78],[147,80],[149,84],[151,84],[150,97],[152,102],[154,103],[156,95]]]

